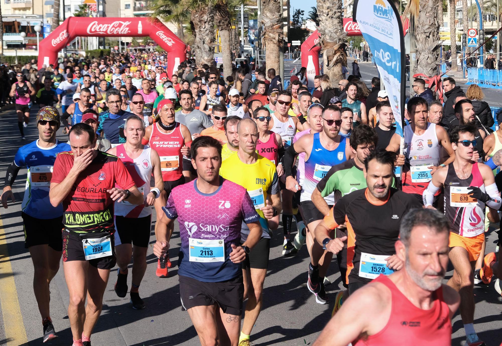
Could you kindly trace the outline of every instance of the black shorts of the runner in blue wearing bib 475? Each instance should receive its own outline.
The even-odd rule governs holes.
[[[61,231],[63,216],[55,219],[36,219],[21,212],[25,231],[25,249],[36,245],[49,245],[55,251],[63,250]]]

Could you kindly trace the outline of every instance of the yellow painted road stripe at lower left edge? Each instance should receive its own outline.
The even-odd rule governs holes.
[[[0,215],[1,216],[1,215]],[[0,217],[0,305],[2,306],[2,317],[4,318],[5,337],[7,346],[17,346],[28,344],[26,329],[19,306],[18,291],[12,272],[7,240],[5,237],[4,223]]]

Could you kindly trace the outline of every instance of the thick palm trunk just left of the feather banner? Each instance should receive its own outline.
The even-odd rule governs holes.
[[[324,73],[331,84],[338,85],[342,79],[342,65],[347,65],[345,38],[343,31],[342,0],[317,0],[319,15],[319,44],[323,53]]]

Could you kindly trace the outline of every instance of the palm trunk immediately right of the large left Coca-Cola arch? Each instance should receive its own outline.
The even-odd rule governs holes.
[[[214,65],[214,8],[199,7],[191,11],[191,20],[195,27],[193,48],[195,60],[200,66]]]

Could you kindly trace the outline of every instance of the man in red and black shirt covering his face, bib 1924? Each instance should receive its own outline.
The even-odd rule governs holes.
[[[92,127],[78,123],[71,128],[71,152],[57,155],[49,191],[53,206],[63,203],[63,269],[70,292],[73,346],[90,345],[115,265],[113,202],[144,203],[122,161],[95,150],[95,144]]]

